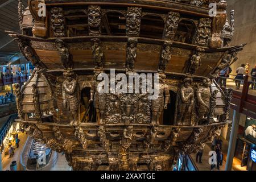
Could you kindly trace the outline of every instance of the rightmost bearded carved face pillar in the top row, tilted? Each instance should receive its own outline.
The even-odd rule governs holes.
[[[197,27],[195,44],[198,46],[208,46],[208,39],[210,38],[212,28],[212,20],[209,18],[201,18],[199,26]]]

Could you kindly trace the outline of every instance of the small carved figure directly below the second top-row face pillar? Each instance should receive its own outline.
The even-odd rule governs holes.
[[[92,54],[95,63],[97,64],[97,68],[102,68],[103,65],[103,51],[100,45],[99,39],[93,39],[93,46],[92,46]]]

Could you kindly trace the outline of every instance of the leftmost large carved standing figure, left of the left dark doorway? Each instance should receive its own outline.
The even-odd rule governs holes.
[[[67,108],[71,115],[69,125],[78,124],[78,96],[77,96],[77,81],[73,78],[73,70],[67,69],[63,73],[65,81],[62,84],[62,96],[64,107]]]

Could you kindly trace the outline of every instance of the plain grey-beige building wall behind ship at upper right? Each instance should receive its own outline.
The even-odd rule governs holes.
[[[247,43],[243,51],[238,53],[238,61],[231,68],[232,74],[241,64],[250,64],[250,70],[256,64],[256,1],[255,0],[227,0],[229,14],[235,10],[234,36],[232,46]]]

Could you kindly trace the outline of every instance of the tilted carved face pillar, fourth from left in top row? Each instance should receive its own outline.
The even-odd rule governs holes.
[[[164,26],[163,39],[174,40],[177,27],[179,25],[180,14],[169,12]]]

